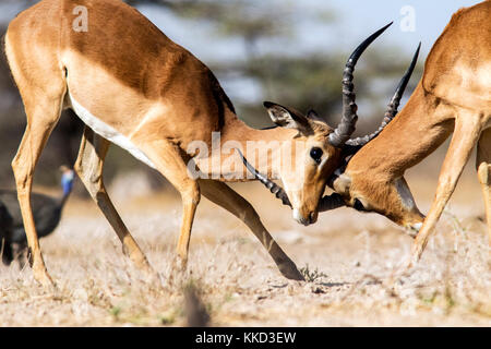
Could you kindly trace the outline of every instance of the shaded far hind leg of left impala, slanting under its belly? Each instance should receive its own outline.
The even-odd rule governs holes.
[[[92,198],[118,234],[119,240],[121,240],[123,252],[129,255],[130,260],[140,269],[153,275],[146,256],[131,236],[106,192],[103,181],[103,170],[109,145],[109,141],[85,127],[79,157],[75,161],[75,170]]]

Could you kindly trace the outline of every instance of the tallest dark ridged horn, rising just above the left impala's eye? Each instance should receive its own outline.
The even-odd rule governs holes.
[[[334,132],[330,134],[330,143],[335,147],[343,147],[345,142],[349,140],[349,136],[355,132],[355,124],[358,120],[358,107],[355,103],[356,94],[352,92],[355,88],[355,85],[352,84],[352,73],[355,71],[355,65],[357,64],[358,59],[367,49],[367,47],[374,39],[376,39],[387,27],[390,27],[392,23],[394,22],[388,23],[383,28],[370,35],[363,43],[361,43],[351,53],[348,62],[346,63],[345,71],[343,73],[343,117],[336,130],[334,130]]]

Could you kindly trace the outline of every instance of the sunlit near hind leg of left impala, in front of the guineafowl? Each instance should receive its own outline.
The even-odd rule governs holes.
[[[56,85],[56,82],[52,82],[52,85]],[[29,264],[33,268],[34,278],[44,286],[50,286],[53,282],[46,269],[39,248],[39,240],[31,206],[31,191],[34,170],[39,156],[60,118],[64,89],[60,87],[59,94],[55,96],[44,91],[29,91],[34,95],[29,95],[28,97],[26,96],[26,89],[22,89],[22,87],[20,89],[21,94],[24,92],[22,96],[27,115],[27,127],[17,154],[12,161],[12,168],[15,176],[19,204],[27,237]],[[43,97],[35,98],[35,96]]]

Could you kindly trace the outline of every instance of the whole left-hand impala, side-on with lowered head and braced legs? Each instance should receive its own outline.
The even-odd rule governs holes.
[[[86,28],[75,31],[74,13],[80,14],[81,8],[88,14]],[[361,45],[355,62],[383,29]],[[137,266],[151,270],[103,183],[110,143],[154,167],[180,192],[183,218],[178,254],[182,261],[188,256],[194,213],[203,194],[248,225],[284,276],[302,278],[252,206],[223,183],[226,178],[221,173],[212,167],[208,174],[214,180],[189,176],[187,161],[196,154],[187,149],[196,140],[209,147],[213,132],[220,132],[223,143],[236,141],[244,147],[248,141],[282,141],[285,146],[301,143],[304,152],[296,157],[294,173],[286,173],[280,166],[284,147],[272,149],[272,161],[255,165],[265,165],[268,176],[280,178],[287,189],[295,188],[298,178],[303,179],[300,188],[287,190],[287,194],[296,219],[311,224],[316,219],[325,181],[340,164],[356,119],[346,115],[333,130],[315,119],[267,104],[271,118],[283,128],[250,129],[237,118],[218,81],[201,61],[135,9],[117,0],[40,1],[12,21],[4,41],[27,115],[25,134],[12,167],[37,280],[51,284],[39,249],[29,194],[39,155],[65,108],[73,109],[86,124],[75,169]],[[352,85],[349,87],[352,89]],[[215,156],[209,155],[211,163]],[[221,154],[220,161],[229,156]],[[242,166],[235,171],[246,172]],[[278,195],[288,200],[284,192]]]

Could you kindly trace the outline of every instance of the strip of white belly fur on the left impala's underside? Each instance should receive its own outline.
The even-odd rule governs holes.
[[[71,107],[73,111],[81,118],[81,120],[89,127],[95,133],[105,137],[106,140],[115,143],[116,145],[122,147],[128,151],[131,155],[137,158],[140,161],[148,165],[152,168],[155,168],[155,165],[148,159],[148,157],[143,154],[127,136],[122,135],[118,131],[116,131],[110,125],[100,121],[100,119],[94,117],[91,111],[85,109],[80,103],[77,103],[70,93],[68,94]]]

